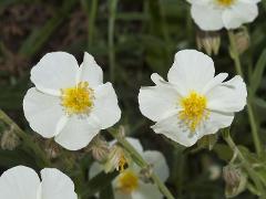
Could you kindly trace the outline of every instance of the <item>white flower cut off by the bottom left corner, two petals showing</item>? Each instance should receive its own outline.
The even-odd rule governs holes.
[[[38,174],[24,166],[13,167],[0,177],[1,199],[78,199],[72,180],[58,169]]]

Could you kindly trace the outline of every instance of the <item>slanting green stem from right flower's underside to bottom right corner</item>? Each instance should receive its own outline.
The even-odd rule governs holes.
[[[246,160],[244,155],[241,153],[241,150],[238,149],[238,147],[236,146],[236,144],[232,139],[232,137],[229,135],[229,130],[226,129],[226,132],[224,132],[222,135],[223,135],[224,140],[227,143],[227,145],[233,150],[233,153],[236,153],[238,159],[243,163],[244,168],[246,169],[246,171],[248,172],[248,176],[252,178],[252,180],[256,185],[256,187],[259,190],[260,195],[263,197],[265,197],[266,196],[266,191],[265,191],[262,182],[258,180],[257,174],[253,170],[252,165]]]

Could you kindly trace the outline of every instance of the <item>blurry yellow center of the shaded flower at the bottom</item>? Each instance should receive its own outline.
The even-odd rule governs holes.
[[[131,193],[139,187],[139,178],[132,170],[125,170],[119,175],[119,190],[123,193]]]

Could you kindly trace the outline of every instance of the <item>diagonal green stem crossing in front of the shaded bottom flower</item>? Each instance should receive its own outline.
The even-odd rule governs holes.
[[[136,149],[123,137],[120,136],[119,133],[114,129],[109,129],[109,133],[117,139],[117,142],[131,154],[134,161],[142,168],[147,168],[149,164],[144,160],[144,158],[136,151]],[[174,199],[173,195],[170,192],[167,187],[161,181],[161,179],[152,172],[151,178],[153,179],[154,184],[157,185],[161,192],[167,198],[167,199]]]

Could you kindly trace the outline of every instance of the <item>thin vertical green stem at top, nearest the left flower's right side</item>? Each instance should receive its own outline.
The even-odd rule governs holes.
[[[110,78],[114,82],[115,70],[115,52],[114,52],[114,23],[116,18],[116,7],[119,0],[110,0],[110,18],[109,18],[109,63],[110,63]]]

